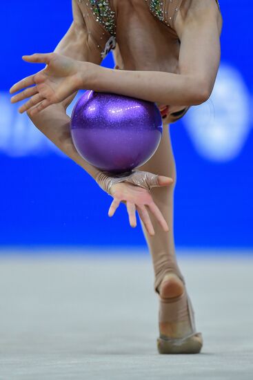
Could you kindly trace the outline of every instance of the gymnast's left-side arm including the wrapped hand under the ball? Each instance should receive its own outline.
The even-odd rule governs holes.
[[[101,63],[99,50],[94,49],[93,52],[92,49],[89,48],[85,23],[79,8],[77,8],[77,2],[75,0],[72,1],[72,9],[74,21],[54,51],[78,61],[86,61],[86,64],[92,64],[90,62],[94,62],[94,64],[98,66]],[[12,86],[12,89],[10,89],[10,92],[14,92],[15,88],[17,91],[17,86],[15,87],[14,85]],[[28,116],[34,125],[37,126],[37,128],[47,136],[49,140],[58,146],[69,158],[79,164],[80,167],[87,171],[104,191],[107,191],[112,195],[114,200],[108,211],[109,216],[113,216],[119,204],[124,202],[127,207],[130,225],[136,227],[135,209],[137,209],[148,233],[154,235],[154,228],[150,216],[145,209],[147,206],[150,212],[154,214],[163,230],[168,231],[167,222],[159,208],[154,204],[154,200],[148,189],[157,186],[169,186],[172,183],[171,178],[164,177],[163,175],[154,175],[145,171],[136,171],[128,176],[130,183],[117,183],[119,178],[111,177],[83,160],[72,142],[70,117],[66,115],[66,108],[68,107],[68,104],[72,102],[72,99],[76,94],[77,91],[65,98],[62,102],[51,104],[32,115],[30,114],[30,111],[32,111],[33,108],[30,108],[27,111]],[[17,95],[19,99],[16,97],[16,102],[23,99],[22,93],[21,97],[19,96],[20,95]]]

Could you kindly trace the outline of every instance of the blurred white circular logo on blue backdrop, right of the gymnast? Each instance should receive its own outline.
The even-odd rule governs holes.
[[[221,65],[208,102],[193,106],[183,117],[196,151],[224,162],[236,158],[250,131],[250,93],[241,73]]]

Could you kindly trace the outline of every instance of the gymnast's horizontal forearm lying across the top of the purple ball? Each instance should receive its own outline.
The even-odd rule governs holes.
[[[80,62],[80,88],[177,106],[201,104],[208,89],[201,78],[159,71],[113,70]],[[88,75],[87,73],[90,73]]]

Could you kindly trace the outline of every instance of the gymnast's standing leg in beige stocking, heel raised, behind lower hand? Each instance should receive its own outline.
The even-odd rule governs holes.
[[[171,301],[172,298],[179,297],[183,294],[185,280],[176,262],[174,249],[173,198],[174,185],[176,182],[176,168],[170,142],[170,126],[163,125],[163,135],[159,148],[152,158],[138,169],[150,171],[159,175],[166,175],[174,179],[174,184],[170,187],[152,189],[152,198],[163,213],[165,220],[168,222],[170,231],[163,231],[158,222],[156,222],[156,219],[150,215],[155,231],[155,235],[150,236],[146,231],[143,222],[141,222],[143,233],[152,256],[154,267],[154,291],[159,294],[161,298]],[[185,334],[188,334],[188,332],[190,332],[190,321],[188,319],[186,303],[183,305],[183,310],[180,310],[181,315],[184,316],[183,321],[181,318],[180,322],[178,321],[176,323],[175,319],[173,319],[175,318],[173,315],[164,315],[166,312],[168,314],[168,308],[166,309],[166,307],[163,307],[163,304],[161,304],[161,298],[160,313],[163,314],[163,316],[161,318],[161,314],[159,314],[160,333],[169,336],[170,338],[180,338],[185,336]],[[162,308],[163,310],[161,310]],[[174,314],[173,310],[170,310],[170,314]],[[164,322],[164,319],[166,322]],[[167,321],[170,321],[170,323]]]

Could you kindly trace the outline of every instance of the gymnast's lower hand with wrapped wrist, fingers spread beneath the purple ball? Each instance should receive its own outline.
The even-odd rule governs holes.
[[[113,216],[123,202],[127,207],[131,227],[136,227],[135,211],[138,211],[148,233],[154,236],[154,227],[148,213],[150,211],[163,230],[168,231],[168,224],[154,203],[150,190],[152,187],[170,186],[172,178],[136,170],[125,177],[113,177],[109,173],[99,172],[96,180],[99,186],[114,198],[108,211],[109,216]]]

